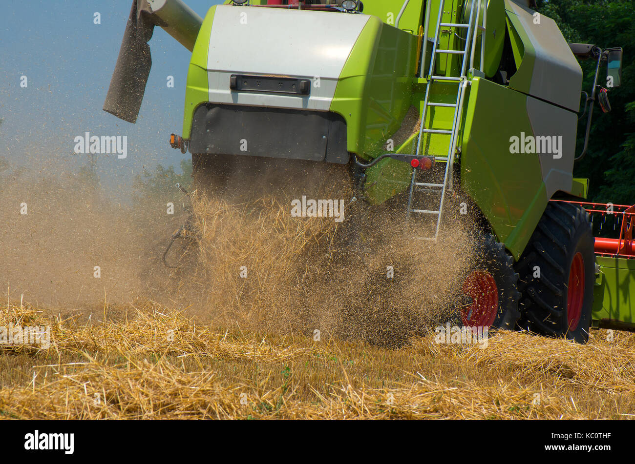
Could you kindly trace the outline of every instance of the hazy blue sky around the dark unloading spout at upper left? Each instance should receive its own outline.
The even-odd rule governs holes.
[[[221,0],[186,0],[201,17]],[[143,167],[173,164],[182,155],[168,145],[182,132],[190,52],[163,29],[150,41],[152,70],[136,124],[102,110],[131,0],[3,0],[0,23],[0,157],[49,174],[76,172],[86,163],[74,138],[128,136],[128,157],[99,155],[102,186],[123,199]],[[101,24],[93,23],[95,12]],[[20,87],[27,76],[28,87]],[[175,86],[166,79],[173,75]]]

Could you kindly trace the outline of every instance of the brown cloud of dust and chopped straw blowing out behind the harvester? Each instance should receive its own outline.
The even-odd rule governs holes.
[[[186,208],[175,215],[163,202],[113,204],[72,176],[4,178],[5,298],[79,311],[154,300],[214,325],[394,346],[455,315],[473,253],[456,215],[438,242],[413,240],[403,198],[370,207],[352,200],[342,169],[298,169],[258,183],[234,171],[224,187],[177,198]],[[303,196],[344,200],[344,222],[293,217]],[[168,238],[189,214],[192,238],[175,242],[167,268]]]

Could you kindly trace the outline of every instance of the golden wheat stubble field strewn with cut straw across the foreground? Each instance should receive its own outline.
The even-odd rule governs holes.
[[[571,419],[635,417],[635,336],[587,345],[505,332],[488,347],[399,348],[221,332],[147,302],[52,327],[48,350],[5,347],[0,415],[20,419]],[[123,314],[122,314],[123,313]]]

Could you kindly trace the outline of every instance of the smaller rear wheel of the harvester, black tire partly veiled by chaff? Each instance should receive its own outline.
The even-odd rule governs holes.
[[[519,276],[513,264],[514,259],[505,252],[505,246],[498,243],[495,236],[490,233],[478,236],[476,259],[468,269],[462,288],[464,294],[469,296],[467,305],[460,311],[464,325],[504,330],[516,328],[520,317],[520,293],[516,288]],[[488,283],[485,287],[482,285],[484,282]]]

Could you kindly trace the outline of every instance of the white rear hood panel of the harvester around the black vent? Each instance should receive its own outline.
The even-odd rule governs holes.
[[[207,61],[210,101],[328,111],[342,69],[368,18],[324,11],[217,6]],[[231,91],[232,74],[310,79],[311,95]]]

